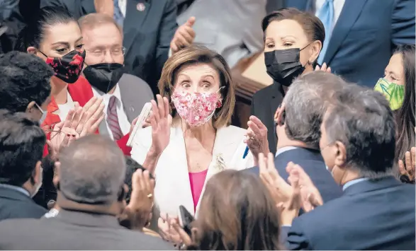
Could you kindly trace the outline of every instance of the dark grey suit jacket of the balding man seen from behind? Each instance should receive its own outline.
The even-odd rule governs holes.
[[[173,250],[115,216],[62,209],[55,218],[1,221],[0,233],[0,250]]]

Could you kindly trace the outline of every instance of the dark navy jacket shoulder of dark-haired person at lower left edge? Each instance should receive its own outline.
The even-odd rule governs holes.
[[[26,194],[8,187],[0,187],[0,221],[8,218],[40,218],[46,212],[46,209],[35,204]],[[1,235],[3,233],[0,231]]]

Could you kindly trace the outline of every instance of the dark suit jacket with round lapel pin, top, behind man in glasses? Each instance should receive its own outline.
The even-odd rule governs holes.
[[[139,3],[145,5],[144,11],[137,11]],[[93,0],[41,0],[40,6],[62,6],[77,18],[96,12]],[[124,63],[129,73],[149,83],[154,93],[159,93],[157,81],[176,28],[174,0],[127,0],[123,23]]]

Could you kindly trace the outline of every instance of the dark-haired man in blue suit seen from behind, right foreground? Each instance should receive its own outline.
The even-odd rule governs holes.
[[[320,151],[344,194],[283,226],[286,247],[415,250],[415,185],[392,176],[395,120],[386,98],[356,85],[336,98],[322,122]]]

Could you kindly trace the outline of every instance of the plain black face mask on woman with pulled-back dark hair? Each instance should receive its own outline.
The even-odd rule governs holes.
[[[306,47],[303,47],[303,49]],[[291,48],[264,52],[267,74],[281,85],[290,86],[293,78],[305,71],[305,67],[299,61],[301,50],[299,48]]]

